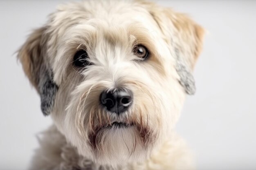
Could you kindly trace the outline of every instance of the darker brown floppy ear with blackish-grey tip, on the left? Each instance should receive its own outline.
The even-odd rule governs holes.
[[[49,115],[58,86],[53,82],[52,69],[47,63],[46,27],[36,29],[18,51],[18,59],[31,84],[40,95],[41,110]]]

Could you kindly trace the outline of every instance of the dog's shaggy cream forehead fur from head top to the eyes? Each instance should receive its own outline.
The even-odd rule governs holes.
[[[56,77],[62,77],[80,47],[94,54],[103,51],[103,55],[97,57],[107,56],[106,49],[110,49],[110,45],[115,50],[118,49],[116,46],[120,47],[119,50],[124,49],[122,53],[131,51],[133,43],[145,45],[160,57],[168,53],[161,29],[146,8],[129,1],[114,2],[90,1],[65,5],[52,15],[49,26],[54,35],[49,43],[55,42],[56,48],[52,44],[48,45],[52,52],[49,56],[54,56],[50,60],[54,63],[52,67],[56,82],[59,82]]]

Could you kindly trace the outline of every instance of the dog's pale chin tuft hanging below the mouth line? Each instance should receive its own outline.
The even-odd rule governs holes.
[[[100,164],[144,160],[148,149],[145,136],[135,123],[114,121],[101,126],[89,140],[95,161]]]

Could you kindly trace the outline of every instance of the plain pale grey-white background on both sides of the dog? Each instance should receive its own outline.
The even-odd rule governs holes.
[[[26,169],[51,124],[15,51],[64,0],[0,1],[0,169]],[[160,1],[208,30],[177,131],[198,169],[256,169],[256,1]]]

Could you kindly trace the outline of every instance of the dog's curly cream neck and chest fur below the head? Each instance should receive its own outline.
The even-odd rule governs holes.
[[[175,133],[145,161],[127,163],[115,168],[96,165],[79,155],[76,148],[66,141],[55,126],[39,134],[38,139],[40,148],[34,155],[31,170],[176,170],[193,167],[186,144]]]

